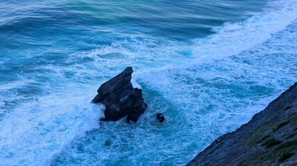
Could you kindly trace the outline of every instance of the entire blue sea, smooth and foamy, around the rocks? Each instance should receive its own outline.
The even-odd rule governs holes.
[[[0,6],[0,165],[185,165],[297,81],[296,0]],[[99,122],[126,66],[148,109]]]

